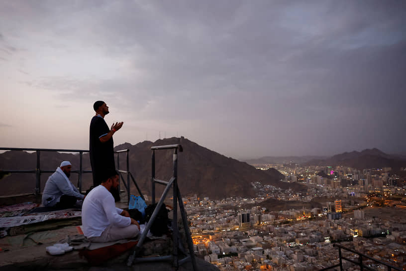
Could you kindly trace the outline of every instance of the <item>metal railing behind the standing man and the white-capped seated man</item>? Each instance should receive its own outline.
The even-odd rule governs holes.
[[[79,152],[79,170],[72,170],[71,173],[78,173],[78,188],[79,191],[82,191],[82,174],[83,173],[91,173],[92,170],[83,170],[83,153],[89,152],[87,149],[54,149],[54,148],[8,148],[8,147],[0,147],[0,150],[23,150],[23,151],[35,151],[36,152],[36,167],[35,169],[28,169],[28,170],[21,170],[21,169],[1,169],[4,172],[7,173],[35,173],[35,195],[40,195],[41,194],[41,174],[42,173],[54,173],[55,170],[44,170],[41,169],[40,167],[40,153],[41,151],[55,151],[55,152],[70,152],[70,153],[75,153]],[[126,155],[126,168],[127,170],[120,170],[120,160],[119,160],[119,154],[125,152]],[[128,201],[130,200],[130,177],[135,184],[135,187],[137,188],[140,196],[144,198],[144,196],[141,193],[141,190],[139,189],[137,183],[135,182],[134,176],[131,174],[129,171],[129,156],[128,156],[129,149],[123,149],[123,150],[118,150],[114,151],[114,153],[117,153],[117,171],[120,173],[120,178],[123,181],[124,187],[127,190],[127,197]],[[124,181],[124,178],[121,173],[127,174],[127,184]]]

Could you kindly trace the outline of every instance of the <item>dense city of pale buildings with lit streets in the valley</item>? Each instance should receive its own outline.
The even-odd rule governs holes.
[[[275,164],[258,168],[270,167],[286,176],[281,181],[300,182],[307,191],[284,190],[258,180],[251,183],[255,198],[184,198],[199,257],[221,271],[321,270],[339,263],[333,244],[340,244],[405,270],[403,177],[391,173],[391,168],[360,171]],[[354,253],[343,255],[358,261]],[[364,264],[387,270],[372,260],[364,259]],[[359,270],[347,261],[343,265],[345,270]]]

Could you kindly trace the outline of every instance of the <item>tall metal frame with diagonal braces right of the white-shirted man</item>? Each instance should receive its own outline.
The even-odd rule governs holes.
[[[173,174],[169,181],[163,181],[155,178],[155,150],[160,149],[173,149]],[[192,236],[189,230],[188,220],[186,217],[185,207],[182,202],[182,196],[179,191],[178,187],[178,149],[179,152],[183,151],[181,144],[174,144],[174,145],[163,145],[163,146],[153,146],[151,147],[152,150],[152,177],[151,177],[151,184],[152,184],[152,204],[155,203],[155,183],[166,185],[164,192],[162,193],[161,198],[158,201],[157,206],[155,207],[154,212],[151,215],[151,219],[148,221],[147,225],[145,226],[145,230],[142,233],[138,244],[136,245],[133,253],[128,257],[127,266],[131,266],[133,263],[139,262],[155,262],[155,261],[172,261],[172,265],[174,268],[178,269],[179,266],[183,265],[186,262],[192,261],[193,270],[197,271],[196,266],[196,259],[193,250],[193,243],[192,243]],[[172,241],[173,241],[173,251],[172,255],[168,256],[160,256],[160,257],[149,257],[149,258],[136,258],[142,248],[142,245],[147,237],[147,233],[151,228],[151,225],[154,223],[155,218],[158,215],[158,212],[164,203],[164,200],[168,194],[168,191],[173,188],[173,220],[172,220]],[[178,203],[179,203],[179,210],[182,216],[183,227],[185,229],[185,235],[187,239],[189,255],[187,255],[186,250],[184,249],[181,241],[181,236],[179,233],[178,228]],[[186,255],[185,258],[179,260],[179,252],[182,252]]]

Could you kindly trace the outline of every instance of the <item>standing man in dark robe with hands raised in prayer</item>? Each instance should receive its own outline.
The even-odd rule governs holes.
[[[90,164],[92,165],[93,186],[96,187],[105,180],[106,172],[115,170],[113,134],[121,129],[123,122],[113,123],[108,128],[104,116],[109,113],[108,106],[103,101],[93,105],[96,115],[90,123]],[[111,189],[115,201],[120,200],[118,189]]]

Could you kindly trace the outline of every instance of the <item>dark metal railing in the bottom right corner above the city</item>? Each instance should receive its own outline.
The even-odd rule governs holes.
[[[342,263],[342,260],[348,261],[348,262],[350,262],[350,263],[353,263],[354,265],[359,266],[359,267],[360,267],[360,271],[364,271],[364,270],[377,271],[376,269],[365,265],[363,258],[366,258],[366,259],[368,259],[368,260],[372,260],[372,261],[374,261],[375,263],[378,263],[378,264],[380,264],[380,265],[384,265],[385,267],[387,267],[387,270],[388,270],[388,271],[392,271],[392,270],[403,271],[403,269],[400,269],[400,268],[398,268],[398,267],[391,266],[391,265],[389,265],[388,263],[384,263],[384,262],[382,262],[382,261],[379,261],[379,260],[377,260],[377,259],[374,259],[374,258],[372,258],[372,257],[369,257],[368,255],[362,254],[362,253],[360,253],[360,252],[358,252],[358,251],[355,251],[355,250],[352,250],[352,249],[350,249],[350,248],[344,247],[344,246],[342,246],[342,245],[340,245],[340,244],[334,244],[333,247],[337,247],[337,248],[338,248],[338,256],[339,256],[340,262],[339,262],[337,265],[334,265],[334,266],[331,266],[331,267],[327,267],[327,268],[321,269],[321,270],[319,270],[319,271],[330,270],[330,269],[333,269],[333,268],[336,268],[336,267],[339,267],[339,268],[340,268],[340,271],[343,271],[343,263]],[[349,258],[347,258],[347,257],[342,256],[341,249],[343,249],[343,250],[345,250],[345,251],[349,251],[349,252],[351,252],[351,253],[354,253],[354,254],[358,255],[358,261],[354,261],[353,259],[349,259]]]

